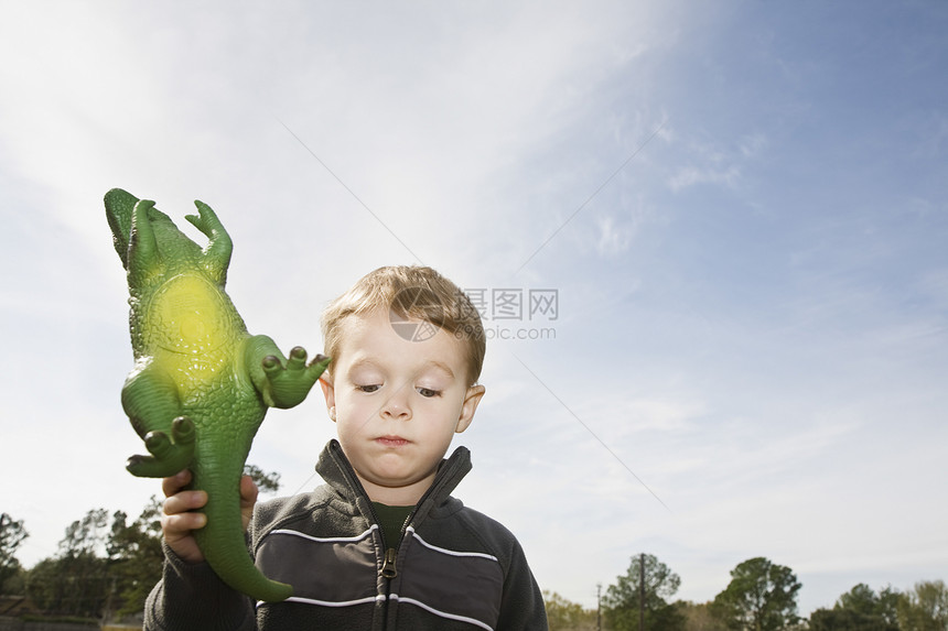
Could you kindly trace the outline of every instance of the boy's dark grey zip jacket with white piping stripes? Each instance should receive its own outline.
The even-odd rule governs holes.
[[[547,629],[542,597],[517,540],[451,497],[471,470],[465,447],[442,463],[397,550],[386,547],[371,502],[336,440],[326,445],[316,470],[326,485],[258,504],[250,523],[257,566],[291,584],[292,598],[255,607],[205,564],[185,565],[166,551],[144,628]]]

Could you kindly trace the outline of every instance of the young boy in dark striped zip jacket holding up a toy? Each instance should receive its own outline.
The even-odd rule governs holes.
[[[251,553],[293,597],[256,606],[203,563],[191,531],[206,502],[168,478],[166,563],[146,605],[146,629],[387,631],[547,629],[542,597],[517,540],[451,491],[471,469],[455,433],[484,387],[477,311],[430,268],[381,268],[323,314],[321,381],[338,440],[312,493],[254,505],[241,481]],[[250,515],[252,513],[252,519]]]

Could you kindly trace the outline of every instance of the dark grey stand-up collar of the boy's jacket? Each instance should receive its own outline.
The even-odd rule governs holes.
[[[416,509],[416,518],[420,519],[431,509],[448,502],[451,493],[471,470],[471,452],[467,447],[457,447],[450,458],[445,458],[438,467],[438,475],[431,488],[422,496]],[[364,514],[367,505],[368,494],[356,477],[355,469],[343,453],[342,445],[333,438],[323,448],[316,463],[316,472],[323,477],[337,493],[348,501],[355,503]]]

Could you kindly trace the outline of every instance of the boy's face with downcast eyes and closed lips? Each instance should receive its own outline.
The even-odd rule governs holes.
[[[418,502],[484,387],[467,387],[462,341],[444,330],[410,341],[388,312],[343,323],[330,383],[321,381],[340,443],[371,500]]]

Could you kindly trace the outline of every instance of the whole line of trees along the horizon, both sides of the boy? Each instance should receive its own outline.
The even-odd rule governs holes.
[[[248,472],[276,492],[279,475]],[[137,616],[161,578],[161,503],[151,498],[141,514],[91,510],[73,522],[55,555],[26,569],[17,559],[29,536],[22,521],[0,514],[0,596],[25,596],[41,611],[95,620]],[[941,580],[913,589],[874,591],[860,584],[831,608],[808,618],[797,611],[802,585],[786,566],[756,557],[731,570],[731,581],[703,603],[674,600],[681,579],[654,555],[633,556],[601,598],[599,611],[545,592],[551,631],[948,631],[948,588]]]

